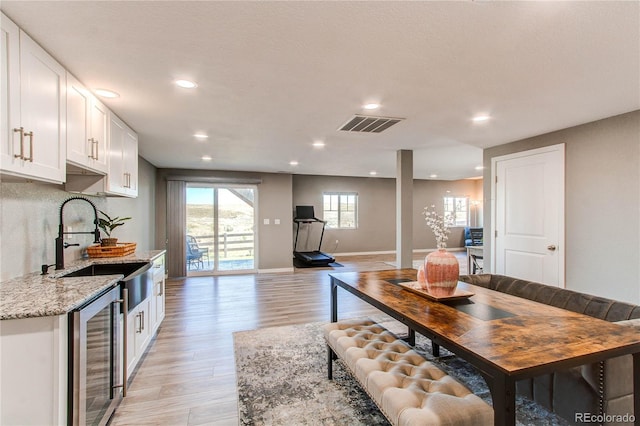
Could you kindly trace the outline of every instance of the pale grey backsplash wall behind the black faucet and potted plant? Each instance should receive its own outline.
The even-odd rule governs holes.
[[[136,242],[140,250],[163,249],[153,246],[155,168],[141,159],[138,177],[138,198],[81,196],[109,215],[133,218],[114,231],[113,236],[120,241]],[[78,195],[64,191],[59,185],[0,182],[0,281],[40,271],[41,265],[55,263],[60,205]],[[93,209],[82,201],[67,203],[64,224],[74,232],[93,231]],[[93,244],[93,236],[73,235],[67,241],[80,247],[65,249],[65,262],[80,258],[82,250]]]

